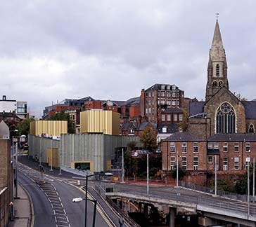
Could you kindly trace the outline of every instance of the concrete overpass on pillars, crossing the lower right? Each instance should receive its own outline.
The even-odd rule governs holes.
[[[188,213],[200,214],[201,226],[213,226],[225,221],[230,226],[256,227],[256,205],[238,200],[215,197],[207,193],[188,190],[186,188],[151,186],[147,195],[145,185],[136,184],[104,184],[103,187],[113,188],[113,192],[105,193],[112,199],[131,200],[145,205],[164,205],[169,207],[169,226],[174,226],[174,215],[177,209]],[[103,189],[105,190],[105,189]]]

